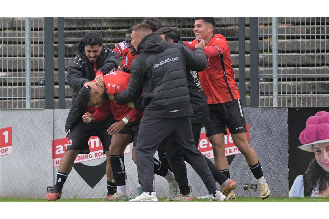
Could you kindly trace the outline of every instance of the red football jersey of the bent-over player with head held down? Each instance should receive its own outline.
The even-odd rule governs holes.
[[[107,89],[107,93],[110,95],[118,94],[124,91],[128,87],[130,74],[125,72],[112,72],[104,75],[104,84]],[[132,110],[128,105],[120,106],[119,104],[111,101],[111,108],[113,117],[115,120],[122,120]],[[135,121],[137,118],[143,115],[143,111],[139,111],[137,116],[132,118],[130,122]]]

